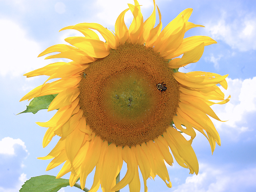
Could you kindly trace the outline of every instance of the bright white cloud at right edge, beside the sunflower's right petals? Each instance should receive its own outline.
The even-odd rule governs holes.
[[[230,101],[224,105],[213,105],[212,109],[221,120],[228,121],[225,123],[214,121],[214,123],[219,131],[236,138],[240,133],[252,130],[251,127],[246,126],[246,117],[256,112],[256,77],[245,80],[227,78],[227,83],[228,89],[221,89],[226,96],[231,95]]]

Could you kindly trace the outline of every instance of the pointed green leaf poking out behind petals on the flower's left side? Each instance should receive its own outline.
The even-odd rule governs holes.
[[[18,113],[18,114],[22,114],[22,113],[33,113],[33,114],[36,114],[39,110],[48,109],[49,105],[52,102],[52,100],[57,95],[58,94],[45,95],[45,96],[41,96],[41,97],[35,97],[34,99],[32,99],[32,101],[29,103],[29,105],[27,105],[27,109],[25,111],[23,111],[23,112]]]

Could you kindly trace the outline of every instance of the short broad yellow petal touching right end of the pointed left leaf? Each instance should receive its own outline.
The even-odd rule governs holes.
[[[60,92],[49,105],[48,111],[56,110],[62,106],[71,104],[79,95],[78,88],[68,88]]]

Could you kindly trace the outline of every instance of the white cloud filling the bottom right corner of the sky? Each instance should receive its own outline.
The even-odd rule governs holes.
[[[255,188],[256,168],[229,171],[225,168],[213,168],[200,164],[200,173],[187,177],[185,183],[175,187],[174,192],[223,192],[250,191]]]

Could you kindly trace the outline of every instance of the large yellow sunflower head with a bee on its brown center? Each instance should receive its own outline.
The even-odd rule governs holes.
[[[75,29],[84,36],[68,37],[65,40],[72,46],[54,45],[39,56],[60,52],[46,59],[72,61],[55,62],[25,74],[50,76],[47,81],[58,78],[46,81],[21,100],[58,94],[48,109],[58,109],[56,114],[48,122],[37,124],[49,127],[43,147],[55,135],[60,139],[49,155],[39,159],[53,158],[47,170],[65,162],[56,178],[71,172],[71,186],[80,178],[83,189],[96,167],[90,191],[97,191],[100,185],[103,192],[116,191],[127,184],[130,191],[140,191],[139,169],[145,191],[146,180],[156,175],[172,187],[165,163],[172,166],[173,156],[190,174],[198,174],[198,160],[191,147],[195,130],[208,139],[212,152],[216,143],[221,143],[208,116],[221,121],[210,106],[229,101],[230,96],[224,99],[217,86],[227,89],[228,75],[178,71],[197,62],[204,46],[216,41],[207,36],[184,38],[187,30],[203,27],[188,22],[192,9],[182,11],[161,30],[158,7],[159,24],[154,27],[155,1],[153,13],[145,22],[139,3],[134,2],[118,16],[115,32],[96,23],[61,29]],[[128,29],[124,15],[129,10],[134,18]],[[116,183],[123,161],[127,172]]]

